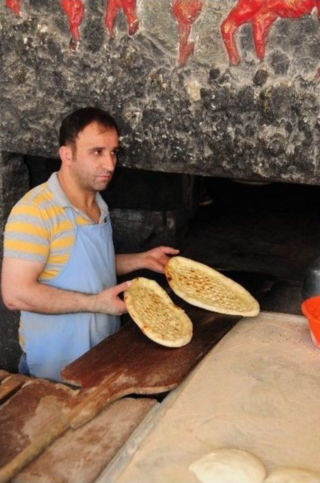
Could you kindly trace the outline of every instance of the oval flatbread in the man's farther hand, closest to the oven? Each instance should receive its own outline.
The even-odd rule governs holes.
[[[258,302],[245,288],[203,263],[174,256],[165,275],[172,290],[192,305],[229,315],[259,313]]]

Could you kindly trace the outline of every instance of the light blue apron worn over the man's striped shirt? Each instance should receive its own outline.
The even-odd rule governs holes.
[[[116,285],[110,218],[105,223],[76,225],[72,208],[67,213],[74,229],[68,261],[47,285],[83,293],[98,293]],[[30,375],[61,380],[60,370],[120,327],[120,318],[104,313],[47,315],[21,312]]]

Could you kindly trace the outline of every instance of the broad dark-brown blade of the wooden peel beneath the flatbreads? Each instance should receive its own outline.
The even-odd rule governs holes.
[[[260,297],[273,279],[252,273],[228,273],[253,296]],[[172,348],[148,339],[129,319],[118,332],[104,339],[62,371],[62,378],[82,388],[69,414],[71,427],[88,421],[103,406],[131,393],[154,394],[175,387],[190,368],[241,318],[194,307],[169,293],[193,322],[191,341]]]

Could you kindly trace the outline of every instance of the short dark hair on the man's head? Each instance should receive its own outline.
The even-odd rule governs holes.
[[[106,129],[119,129],[113,117],[99,107],[82,107],[68,114],[61,122],[59,130],[59,146],[71,144],[75,146],[75,138],[91,122],[97,122]]]

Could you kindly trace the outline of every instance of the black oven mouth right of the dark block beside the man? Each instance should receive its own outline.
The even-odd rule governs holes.
[[[320,253],[320,187],[204,178],[185,253],[231,278],[265,276],[261,309],[301,314],[304,274]]]

